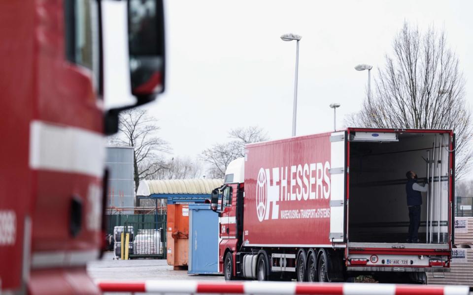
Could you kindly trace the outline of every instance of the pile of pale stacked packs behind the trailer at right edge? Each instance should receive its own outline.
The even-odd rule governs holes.
[[[455,217],[450,272],[440,276],[439,273],[427,272],[427,284],[473,287],[473,217]]]

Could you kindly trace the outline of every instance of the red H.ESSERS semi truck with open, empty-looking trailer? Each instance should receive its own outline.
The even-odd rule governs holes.
[[[226,280],[425,282],[449,271],[451,130],[348,128],[249,144],[212,193]],[[420,242],[406,241],[405,174],[428,182]]]

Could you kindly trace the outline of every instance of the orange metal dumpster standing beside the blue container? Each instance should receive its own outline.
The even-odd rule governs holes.
[[[168,265],[187,269],[189,264],[189,205],[168,205]]]

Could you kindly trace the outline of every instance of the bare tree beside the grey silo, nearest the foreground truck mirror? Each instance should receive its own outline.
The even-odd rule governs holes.
[[[169,152],[170,148],[166,141],[156,136],[160,129],[156,121],[143,109],[123,111],[120,113],[118,133],[109,140],[112,144],[132,146],[135,149],[135,192],[141,179],[166,168],[162,153]],[[139,206],[137,199],[136,206]]]

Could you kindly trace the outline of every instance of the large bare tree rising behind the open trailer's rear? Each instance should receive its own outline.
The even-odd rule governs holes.
[[[352,127],[453,129],[456,177],[470,168],[471,109],[459,60],[446,45],[445,32],[404,23],[395,36],[392,56],[375,78],[371,99],[345,119]]]

